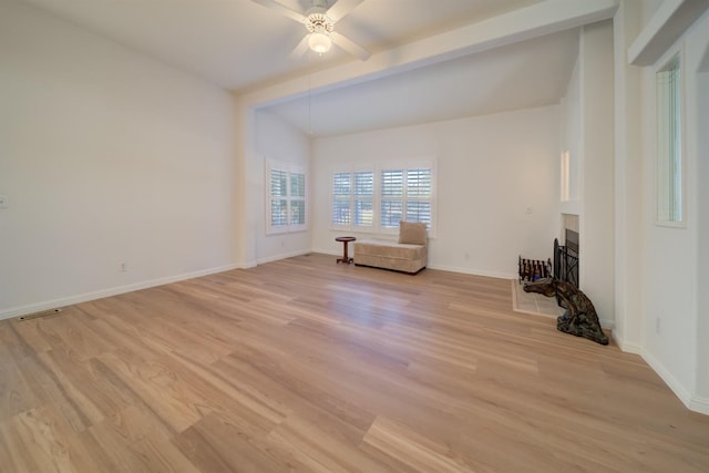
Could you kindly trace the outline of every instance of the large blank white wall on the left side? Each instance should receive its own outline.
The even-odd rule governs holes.
[[[0,317],[234,264],[229,94],[16,2],[0,64]]]

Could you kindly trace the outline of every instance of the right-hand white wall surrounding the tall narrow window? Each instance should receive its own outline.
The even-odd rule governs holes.
[[[643,68],[644,347],[643,356],[691,409],[709,413],[709,312],[707,278],[707,74],[699,74],[709,48],[709,12],[655,65]],[[655,225],[655,72],[682,51],[686,226]],[[706,64],[706,63],[703,63]]]

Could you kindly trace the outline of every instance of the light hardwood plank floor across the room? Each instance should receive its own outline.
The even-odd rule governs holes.
[[[709,471],[708,417],[508,280],[335,259],[0,322],[0,470]]]

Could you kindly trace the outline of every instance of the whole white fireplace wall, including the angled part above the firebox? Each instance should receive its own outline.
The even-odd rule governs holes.
[[[614,327],[613,23],[585,25],[579,38],[578,60],[562,102],[561,147],[571,156],[572,199],[561,203],[561,212],[579,217],[579,287],[602,325]]]

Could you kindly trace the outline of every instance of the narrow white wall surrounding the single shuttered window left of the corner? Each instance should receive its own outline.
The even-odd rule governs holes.
[[[310,138],[273,113],[256,112],[256,153],[253,171],[255,181],[261,183],[260,191],[253,196],[257,212],[256,218],[256,260],[258,264],[300,255],[310,250],[311,232],[266,235],[266,160],[281,163],[295,163],[309,167]],[[306,181],[311,181],[308,169]],[[312,186],[306,183],[310,189]],[[308,214],[310,206],[306,209]],[[310,227],[311,228],[311,227]]]

